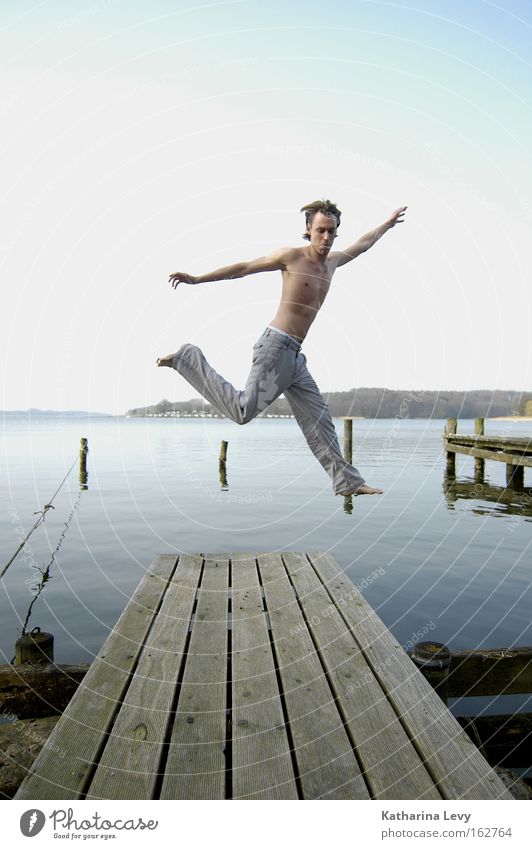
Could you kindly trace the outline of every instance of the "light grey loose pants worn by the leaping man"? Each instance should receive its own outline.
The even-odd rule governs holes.
[[[364,483],[346,463],[327,404],[307,368],[301,346],[291,336],[267,328],[253,346],[251,371],[244,389],[235,389],[195,345],[177,351],[173,367],[220,413],[246,424],[284,392],[314,456],[332,479],[339,495]]]

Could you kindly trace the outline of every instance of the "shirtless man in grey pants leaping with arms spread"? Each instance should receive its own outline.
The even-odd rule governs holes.
[[[310,449],[330,475],[336,495],[374,495],[382,489],[368,486],[360,472],[340,451],[329,409],[307,369],[301,344],[325,300],[331,279],[341,265],[355,259],[381,236],[401,224],[406,206],[397,209],[380,227],[361,236],[344,251],[331,252],[340,225],[340,210],[329,200],[304,206],[306,229],[303,248],[281,248],[260,259],[237,262],[197,277],[182,271],[170,275],[179,283],[232,280],[263,271],[280,271],[283,291],[277,314],[253,348],[251,371],[243,390],[235,389],[209,365],[195,345],[183,345],[157,360],[176,369],[217,410],[237,424],[246,424],[284,393]]]

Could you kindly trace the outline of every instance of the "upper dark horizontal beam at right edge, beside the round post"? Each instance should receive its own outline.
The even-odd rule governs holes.
[[[532,693],[532,647],[451,652],[451,698],[513,693]]]

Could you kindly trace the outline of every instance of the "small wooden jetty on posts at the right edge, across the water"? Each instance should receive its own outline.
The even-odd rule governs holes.
[[[532,466],[532,437],[485,436],[484,419],[475,419],[473,435],[458,434],[457,419],[447,419],[443,435],[447,455],[447,474],[454,476],[456,454],[468,454],[475,458],[475,478],[482,481],[486,460],[506,463],[506,486],[522,490],[524,470]]]

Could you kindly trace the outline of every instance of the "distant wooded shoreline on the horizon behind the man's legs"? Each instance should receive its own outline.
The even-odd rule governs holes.
[[[471,391],[403,390],[361,388],[346,392],[324,392],[333,417],[362,416],[372,419],[474,419],[478,416],[531,415],[532,392],[515,390],[473,389]],[[212,415],[220,414],[202,398],[189,401],[168,401],[163,398],[149,407],[135,407],[127,416]],[[287,416],[291,414],[281,396],[261,414]]]

